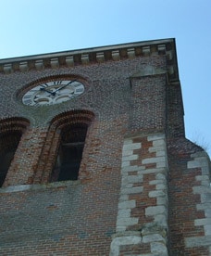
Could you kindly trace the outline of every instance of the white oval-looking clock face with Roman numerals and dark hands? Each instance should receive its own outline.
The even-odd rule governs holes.
[[[28,106],[48,106],[68,101],[83,92],[83,84],[76,80],[56,80],[31,88],[22,97],[22,103]]]

